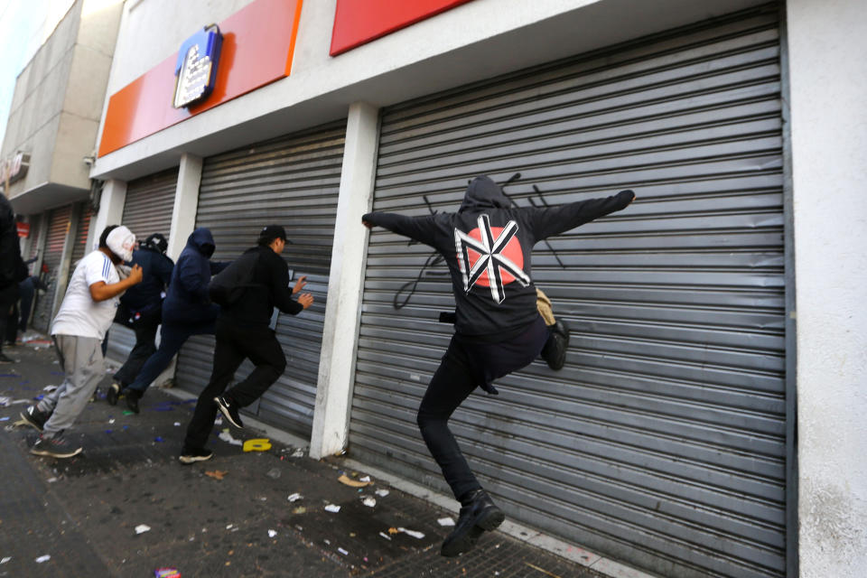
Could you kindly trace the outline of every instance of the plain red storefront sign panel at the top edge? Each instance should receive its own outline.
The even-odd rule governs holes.
[[[406,28],[471,0],[337,0],[331,56]]]

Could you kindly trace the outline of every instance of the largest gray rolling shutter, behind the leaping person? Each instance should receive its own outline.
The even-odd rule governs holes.
[[[758,9],[383,112],[375,210],[455,210],[477,174],[521,172],[521,206],[533,184],[637,191],[536,247],[565,368],[536,361],[451,424],[510,517],[665,576],[785,574],[778,44]],[[448,493],[415,425],[451,335],[444,267],[392,304],[429,254],[370,237],[350,449]]]

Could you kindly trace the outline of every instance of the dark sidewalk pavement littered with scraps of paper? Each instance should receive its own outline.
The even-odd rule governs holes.
[[[0,396],[33,400],[60,384],[47,342],[7,354],[19,362],[0,366]],[[359,480],[363,466],[313,461],[304,448],[272,440],[266,452],[243,452],[217,438],[228,424],[214,429],[214,459],[183,466],[177,455],[194,400],[152,389],[141,406],[127,415],[123,401],[89,404],[68,432],[84,446],[70,460],[30,455],[35,430],[13,426],[26,405],[0,407],[0,576],[146,577],[165,567],[184,578],[603,575],[502,532],[443,558],[450,528],[438,520],[454,518],[447,509],[376,477],[365,488],[345,485],[340,475]],[[296,493],[303,498],[290,501]]]

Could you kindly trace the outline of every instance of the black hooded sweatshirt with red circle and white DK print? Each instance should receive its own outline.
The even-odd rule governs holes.
[[[456,213],[405,217],[372,212],[362,220],[435,248],[452,275],[455,331],[496,342],[516,337],[536,321],[530,255],[538,241],[616,210],[635,198],[620,191],[605,199],[554,207],[515,207],[496,182],[476,177]]]

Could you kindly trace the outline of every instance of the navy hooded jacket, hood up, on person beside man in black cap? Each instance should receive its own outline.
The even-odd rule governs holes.
[[[211,275],[218,274],[228,264],[210,261],[214,254],[214,238],[210,229],[192,231],[181,256],[172,271],[172,282],[163,301],[163,322],[196,325],[217,319],[219,305],[210,303],[208,284]]]

